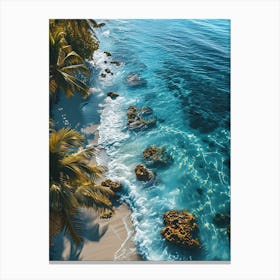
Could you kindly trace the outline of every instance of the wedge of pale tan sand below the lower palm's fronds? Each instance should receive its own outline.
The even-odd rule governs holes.
[[[133,242],[134,229],[126,204],[115,208],[112,218],[100,219],[93,210],[83,210],[86,234],[79,260],[84,261],[139,261]],[[86,238],[86,236],[88,238]]]

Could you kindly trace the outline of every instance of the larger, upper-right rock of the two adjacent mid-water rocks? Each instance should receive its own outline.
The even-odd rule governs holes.
[[[165,166],[171,161],[170,155],[165,151],[164,147],[152,145],[144,150],[143,157],[148,165]]]

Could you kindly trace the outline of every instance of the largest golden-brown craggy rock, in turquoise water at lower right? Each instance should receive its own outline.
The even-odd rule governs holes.
[[[169,242],[186,249],[200,249],[196,218],[188,211],[171,210],[163,215],[165,227],[161,235]]]

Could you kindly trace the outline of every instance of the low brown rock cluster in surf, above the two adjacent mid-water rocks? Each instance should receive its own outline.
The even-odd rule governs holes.
[[[155,118],[144,119],[142,116],[152,114],[150,107],[137,108],[129,106],[127,108],[127,127],[131,130],[145,129],[156,124]]]

